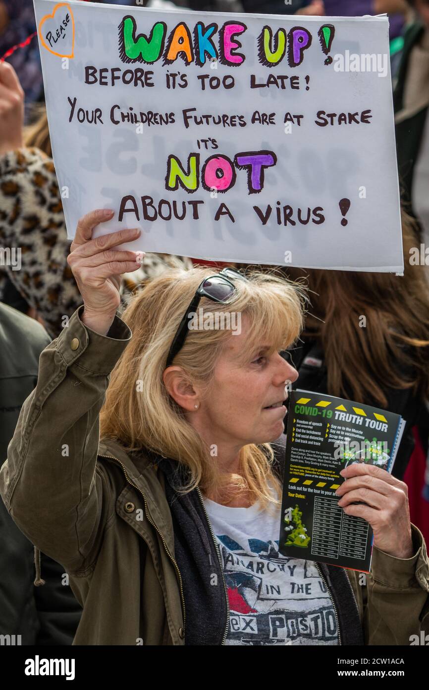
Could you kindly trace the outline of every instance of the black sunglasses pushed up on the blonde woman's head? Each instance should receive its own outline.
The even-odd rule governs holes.
[[[171,365],[174,357],[176,357],[177,353],[180,352],[183,344],[185,343],[187,334],[189,332],[189,314],[196,311],[198,304],[200,304],[201,297],[207,297],[207,299],[211,299],[212,302],[226,302],[227,299],[234,293],[236,288],[228,278],[233,280],[248,280],[245,275],[238,273],[238,270],[234,270],[233,268],[222,268],[220,273],[210,275],[208,278],[205,278],[202,283],[200,283],[195,295],[193,295],[191,304],[189,304],[186,310],[185,316],[182,318],[179,324],[173,342],[171,343],[171,348],[169,349],[167,357],[167,364],[165,365],[166,368],[167,366]]]

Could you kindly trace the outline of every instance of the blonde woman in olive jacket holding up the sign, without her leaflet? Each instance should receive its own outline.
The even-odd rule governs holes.
[[[0,471],[13,519],[83,605],[74,644],[410,644],[427,624],[429,562],[405,484],[346,470],[340,505],[375,535],[366,582],[278,550],[297,377],[280,351],[302,327],[299,286],[179,268],[121,320],[120,277],[139,263],[116,247],[139,231],[92,239],[112,213],[79,222],[68,261],[83,306],[43,351]],[[235,331],[188,327],[233,313]]]

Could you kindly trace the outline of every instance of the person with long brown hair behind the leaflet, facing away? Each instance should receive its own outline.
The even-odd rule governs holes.
[[[404,276],[344,270],[283,269],[306,279],[311,308],[300,342],[289,352],[299,387],[346,397],[406,420],[393,475],[402,479],[419,426],[428,448],[428,268],[410,263],[419,246],[415,224],[402,213]],[[298,384],[297,384],[298,385]]]

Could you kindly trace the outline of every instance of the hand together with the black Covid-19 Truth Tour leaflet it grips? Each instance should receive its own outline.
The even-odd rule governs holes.
[[[284,555],[367,572],[374,545],[395,558],[412,556],[407,487],[391,476],[404,426],[399,415],[369,405],[292,391]]]

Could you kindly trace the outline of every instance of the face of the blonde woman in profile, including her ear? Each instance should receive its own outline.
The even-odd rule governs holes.
[[[198,410],[198,427],[207,442],[239,449],[249,443],[266,443],[284,431],[287,398],[285,382],[298,373],[278,352],[267,355],[270,342],[262,338],[243,362],[243,345],[249,320],[242,317],[240,335],[231,335],[216,364],[210,391]],[[275,405],[273,407],[273,405]]]

